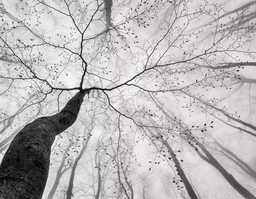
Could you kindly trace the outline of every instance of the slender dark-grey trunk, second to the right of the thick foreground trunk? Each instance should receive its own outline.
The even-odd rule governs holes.
[[[89,137],[87,138],[86,142],[84,143],[84,146],[83,148],[81,149],[81,152],[79,153],[78,157],[76,158],[75,162],[74,162],[74,165],[72,167],[72,171],[71,171],[71,175],[70,175],[70,179],[69,179],[69,187],[68,187],[68,190],[67,190],[67,199],[71,199],[71,197],[73,196],[72,194],[72,190],[73,190],[73,185],[74,185],[74,178],[75,178],[75,171],[76,171],[76,168],[77,168],[77,164],[78,164],[78,161],[81,159],[83,153],[84,153],[84,150],[86,149],[87,147],[87,144],[90,140],[90,135]]]

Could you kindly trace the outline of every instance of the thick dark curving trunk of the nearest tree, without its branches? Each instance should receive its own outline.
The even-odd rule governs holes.
[[[78,92],[61,112],[27,124],[7,149],[0,165],[0,199],[41,199],[55,136],[77,119],[85,93]]]

